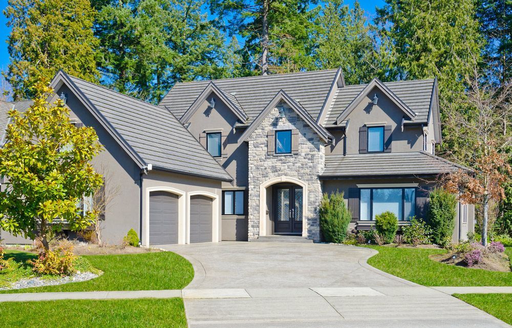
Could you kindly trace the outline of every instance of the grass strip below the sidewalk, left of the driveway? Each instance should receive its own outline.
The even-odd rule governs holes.
[[[186,327],[181,298],[0,303],[0,327]]]

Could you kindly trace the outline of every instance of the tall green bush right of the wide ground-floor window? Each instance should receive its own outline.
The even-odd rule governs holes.
[[[440,246],[449,244],[455,227],[455,195],[436,188],[430,193],[428,211],[429,225],[432,228],[432,241]]]

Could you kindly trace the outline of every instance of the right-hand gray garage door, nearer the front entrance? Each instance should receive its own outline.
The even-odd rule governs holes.
[[[190,197],[190,243],[211,242],[211,205],[209,197]]]

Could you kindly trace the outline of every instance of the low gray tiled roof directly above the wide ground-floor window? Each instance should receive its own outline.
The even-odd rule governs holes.
[[[327,177],[437,175],[469,170],[447,159],[424,151],[325,156]]]

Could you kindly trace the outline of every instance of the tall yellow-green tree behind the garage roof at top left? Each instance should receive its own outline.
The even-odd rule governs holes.
[[[50,80],[58,69],[97,82],[92,26],[95,11],[89,0],[9,0],[4,14],[11,28],[10,64],[5,77],[14,100],[34,96],[39,77]]]

